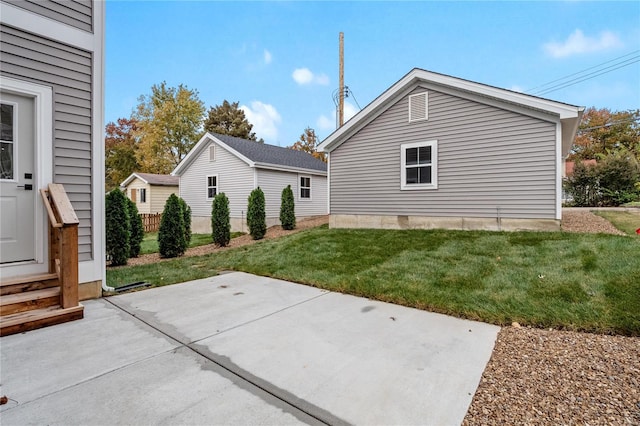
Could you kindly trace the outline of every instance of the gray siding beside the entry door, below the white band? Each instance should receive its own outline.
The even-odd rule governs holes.
[[[0,25],[0,61],[2,76],[53,89],[53,180],[80,220],[79,260],[91,260],[92,53]]]

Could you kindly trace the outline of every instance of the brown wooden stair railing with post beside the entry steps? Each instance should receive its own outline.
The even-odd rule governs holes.
[[[78,306],[78,216],[64,187],[49,184],[40,194],[49,216],[49,272],[60,281],[60,306]]]

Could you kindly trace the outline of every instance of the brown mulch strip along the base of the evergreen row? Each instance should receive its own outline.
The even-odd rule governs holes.
[[[272,238],[282,237],[283,235],[295,234],[296,232],[300,232],[304,229],[315,228],[316,226],[324,225],[326,223],[329,223],[329,216],[316,216],[316,217],[300,220],[296,223],[296,229],[293,229],[291,231],[285,231],[284,229],[282,229],[282,226],[279,226],[279,225],[272,226],[271,228],[267,229],[267,234],[265,235],[264,240],[270,240]],[[262,240],[258,240],[258,241],[262,241]],[[251,238],[251,235],[249,234],[242,235],[240,237],[232,238],[227,247],[218,247],[215,244],[207,244],[204,246],[198,246],[198,247],[193,247],[188,249],[187,252],[184,254],[184,256],[201,256],[203,254],[214,253],[216,251],[228,250],[234,247],[241,247],[249,244],[255,244],[258,241]],[[172,259],[163,259],[160,257],[160,254],[158,253],[143,254],[139,257],[129,259],[126,266],[146,265],[148,263],[157,263],[157,262],[163,262],[167,260],[172,260]],[[113,267],[113,266],[107,265],[107,268],[116,269],[116,268],[124,268],[126,266]]]

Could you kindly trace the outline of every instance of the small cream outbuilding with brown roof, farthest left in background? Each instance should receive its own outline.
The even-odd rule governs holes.
[[[120,184],[120,189],[136,203],[138,213],[156,214],[162,213],[171,194],[178,194],[179,181],[177,176],[131,173]]]

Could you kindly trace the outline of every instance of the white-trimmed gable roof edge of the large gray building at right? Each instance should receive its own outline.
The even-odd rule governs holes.
[[[342,127],[339,127],[330,134],[318,145],[318,151],[333,151],[374,118],[390,108],[402,96],[406,95],[408,90],[413,89],[420,83],[431,83],[437,86],[449,87],[461,92],[495,99],[505,104],[514,104],[553,114],[560,119],[562,125],[562,150],[564,153],[567,153],[571,148],[576,131],[578,130],[580,118],[582,117],[582,112],[584,111],[584,107],[414,68],[364,109],[360,110]]]

